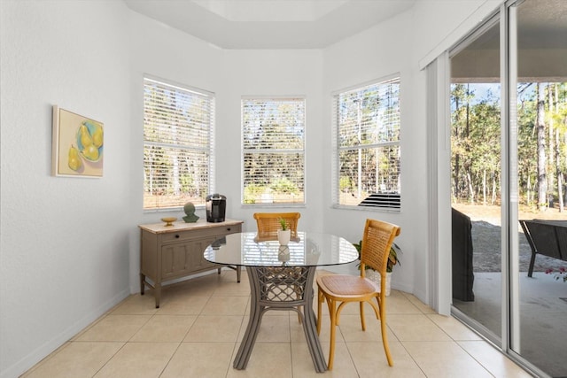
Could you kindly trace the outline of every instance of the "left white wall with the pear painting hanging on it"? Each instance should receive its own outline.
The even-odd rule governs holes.
[[[128,10],[1,1],[0,375],[128,296]],[[104,176],[50,175],[51,105],[105,124]]]

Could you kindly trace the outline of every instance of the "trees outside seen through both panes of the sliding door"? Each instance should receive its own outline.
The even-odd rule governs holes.
[[[496,84],[451,87],[451,192],[454,202],[501,204],[501,104]],[[534,209],[565,202],[567,83],[517,89],[519,202]]]

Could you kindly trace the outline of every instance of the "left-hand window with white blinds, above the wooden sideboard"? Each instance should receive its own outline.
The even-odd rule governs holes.
[[[214,96],[144,78],[144,209],[213,193]]]

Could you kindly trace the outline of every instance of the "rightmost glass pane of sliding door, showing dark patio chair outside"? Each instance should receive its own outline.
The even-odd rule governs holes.
[[[551,376],[567,376],[567,2],[517,7],[519,325],[511,346]],[[537,251],[537,254],[532,254]],[[514,251],[513,251],[514,253]],[[514,289],[514,288],[513,288]]]

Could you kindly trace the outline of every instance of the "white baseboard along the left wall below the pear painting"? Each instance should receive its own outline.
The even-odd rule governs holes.
[[[31,351],[27,356],[20,359],[18,362],[12,366],[8,366],[3,372],[0,373],[0,378],[17,378],[19,375],[24,374],[35,366],[42,359],[45,359],[53,351],[56,351],[61,345],[69,341],[73,336],[77,335],[82,329],[89,326],[90,323],[100,318],[105,312],[113,308],[113,306],[118,305],[124,298],[130,295],[128,289],[120,291],[110,300],[106,301],[105,304],[99,306],[97,310],[89,313],[87,316],[83,317],[81,320],[74,322],[69,328],[58,336],[53,337],[46,343],[43,343],[34,351]]]

